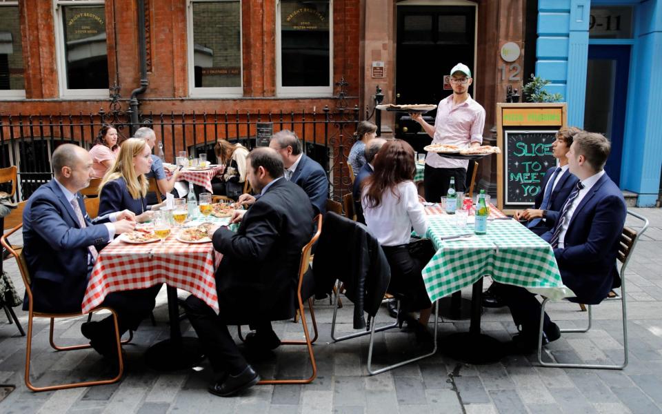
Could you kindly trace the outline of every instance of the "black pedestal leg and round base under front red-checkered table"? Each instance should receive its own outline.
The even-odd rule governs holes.
[[[177,371],[195,366],[203,359],[198,338],[181,335],[177,288],[165,285],[168,293],[170,338],[150,346],[145,353],[146,364],[157,371]]]

